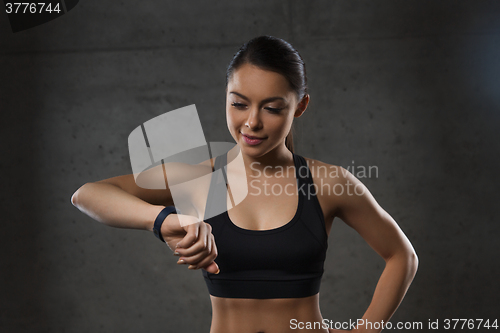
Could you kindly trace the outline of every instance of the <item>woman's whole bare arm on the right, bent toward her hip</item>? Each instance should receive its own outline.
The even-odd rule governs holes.
[[[361,319],[363,323],[386,323],[403,300],[417,272],[417,254],[398,224],[380,207],[368,189],[349,171],[342,171],[341,182],[345,188],[342,195],[332,198],[336,201],[335,215],[355,229],[385,260],[385,269],[372,301]],[[381,330],[360,324],[352,332],[378,333]]]

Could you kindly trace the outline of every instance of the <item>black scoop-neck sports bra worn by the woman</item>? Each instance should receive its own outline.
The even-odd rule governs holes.
[[[210,295],[268,299],[308,297],[319,292],[328,235],[307,163],[296,154],[293,159],[297,210],[290,222],[270,230],[243,229],[231,221],[226,209],[227,155],[215,159],[205,209],[205,217],[213,217],[205,222],[212,226],[220,273],[202,270]]]

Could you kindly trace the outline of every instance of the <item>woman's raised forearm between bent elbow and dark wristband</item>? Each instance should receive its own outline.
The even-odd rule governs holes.
[[[87,183],[71,197],[71,202],[94,220],[129,229],[153,230],[158,213],[164,208],[147,203],[118,186],[98,182]]]

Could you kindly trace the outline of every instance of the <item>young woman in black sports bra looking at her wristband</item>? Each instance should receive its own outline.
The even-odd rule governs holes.
[[[309,103],[298,52],[270,36],[244,44],[227,69],[226,101],[236,146],[184,168],[214,171],[214,176],[204,190],[186,195],[193,207],[189,215],[170,214],[160,229],[179,264],[203,269],[213,309],[210,332],[341,332],[322,324],[319,309],[335,217],[386,262],[362,319],[387,322],[416,273],[417,256],[396,222],[352,174],[294,154],[292,123]],[[222,183],[215,180],[218,170]],[[222,213],[208,214],[217,212],[217,200],[211,199],[217,195],[224,198],[217,208]],[[235,204],[233,197],[244,199]],[[108,225],[147,230],[153,230],[165,206],[173,205],[169,188],[140,188],[133,175],[87,183],[72,202]],[[380,332],[380,327],[359,322],[353,331]]]

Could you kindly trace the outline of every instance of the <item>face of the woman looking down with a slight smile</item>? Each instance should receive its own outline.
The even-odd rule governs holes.
[[[304,110],[286,78],[276,72],[244,64],[228,82],[227,126],[247,155],[259,157],[273,149],[286,149],[293,118]]]

